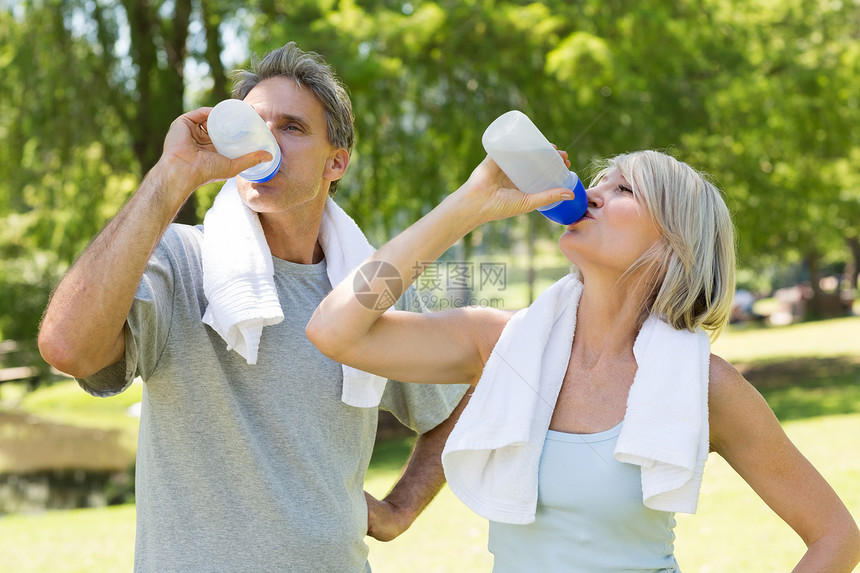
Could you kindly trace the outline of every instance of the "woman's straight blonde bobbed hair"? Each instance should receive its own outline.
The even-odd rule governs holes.
[[[645,281],[640,325],[656,314],[679,330],[701,326],[716,339],[735,290],[734,228],[720,190],[658,151],[618,155],[600,167],[594,181],[618,169],[661,235],[625,273]]]

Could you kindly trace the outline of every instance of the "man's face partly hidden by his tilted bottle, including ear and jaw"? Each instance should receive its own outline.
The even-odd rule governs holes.
[[[331,181],[349,163],[345,149],[328,141],[325,110],[316,95],[285,77],[263,80],[247,96],[281,148],[281,167],[269,181],[237,178],[239,194],[258,213],[280,213],[308,202],[324,203]]]

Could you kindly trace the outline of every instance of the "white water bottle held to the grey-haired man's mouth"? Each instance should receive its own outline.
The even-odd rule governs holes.
[[[281,167],[281,148],[275,136],[254,108],[242,100],[226,99],[212,108],[206,130],[218,153],[230,159],[261,149],[272,154],[271,161],[239,174],[248,181],[268,181]]]

